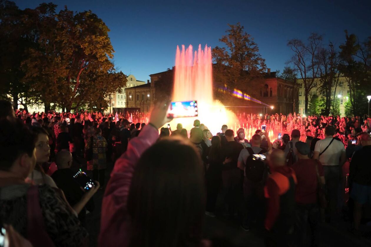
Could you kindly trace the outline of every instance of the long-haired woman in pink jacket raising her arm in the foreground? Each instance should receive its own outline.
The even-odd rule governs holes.
[[[167,109],[165,103],[154,107],[149,124],[115,163],[102,203],[99,246],[202,246],[201,158],[183,138],[157,141],[158,129],[169,121]]]

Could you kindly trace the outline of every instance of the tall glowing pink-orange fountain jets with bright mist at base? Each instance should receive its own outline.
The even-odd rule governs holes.
[[[198,119],[211,131],[212,134],[220,132],[223,124],[232,127],[236,116],[232,111],[226,110],[220,101],[213,99],[213,73],[211,47],[205,46],[193,52],[190,45],[187,49],[177,46],[175,56],[175,76],[173,101],[197,100],[198,117],[178,118],[172,121],[172,126],[183,124],[188,131],[193,128],[193,121]]]

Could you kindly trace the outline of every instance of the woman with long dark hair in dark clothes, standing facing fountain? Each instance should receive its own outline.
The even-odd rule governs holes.
[[[207,200],[205,214],[215,217],[215,204],[221,185],[221,168],[223,164],[232,161],[232,158],[224,159],[219,136],[211,137],[211,147],[207,160],[209,161],[209,168],[206,171]]]

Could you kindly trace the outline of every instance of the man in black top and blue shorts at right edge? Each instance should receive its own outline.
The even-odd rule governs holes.
[[[361,150],[355,151],[349,165],[350,197],[354,200],[354,231],[359,233],[362,207],[371,203],[371,137],[368,133],[359,135]]]

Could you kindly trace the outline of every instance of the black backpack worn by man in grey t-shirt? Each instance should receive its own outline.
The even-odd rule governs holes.
[[[264,161],[260,158],[254,157],[254,150],[251,147],[246,148],[250,156],[247,157],[245,164],[245,176],[247,179],[253,182],[260,182],[264,179],[264,175],[267,171],[267,166]],[[267,150],[263,149],[257,154],[264,154]]]

